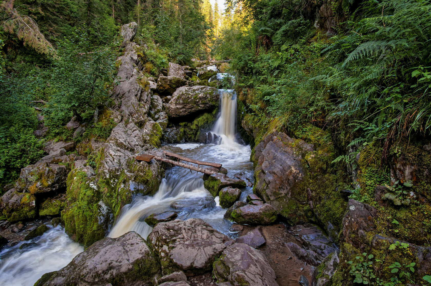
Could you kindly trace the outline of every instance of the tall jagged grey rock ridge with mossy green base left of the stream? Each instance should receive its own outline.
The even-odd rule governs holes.
[[[112,109],[103,111],[105,115],[99,115],[112,118],[117,124],[91,154],[97,158],[97,167],[93,170],[75,165],[67,180],[68,206],[62,211],[62,221],[66,233],[87,246],[106,235],[121,207],[130,203],[134,194],[155,193],[164,175],[165,167],[159,162],[134,160],[141,152],[157,151],[162,128],[167,124],[160,98],[153,95],[141,71],[137,56],[141,47],[130,42],[135,25],[132,22],[122,27],[125,52],[117,59],[119,84],[112,91],[114,104]]]

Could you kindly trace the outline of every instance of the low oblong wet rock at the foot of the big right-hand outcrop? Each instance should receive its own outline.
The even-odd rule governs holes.
[[[244,205],[234,209],[231,216],[237,224],[269,225],[277,220],[275,209],[266,203],[263,205]]]

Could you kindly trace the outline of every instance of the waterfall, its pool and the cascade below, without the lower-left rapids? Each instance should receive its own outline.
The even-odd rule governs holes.
[[[217,74],[217,78],[226,75]],[[192,155],[191,158],[220,162],[232,173],[251,172],[250,147],[235,142],[236,93],[234,90],[219,92],[220,113],[213,130],[209,133],[209,137],[214,139],[209,141],[215,145],[186,143],[174,145],[173,148],[181,148],[181,155]],[[244,192],[244,198],[246,193]],[[172,203],[178,202],[181,202],[179,206],[172,208]],[[144,219],[150,214],[168,210],[177,211],[180,219],[202,218],[225,233],[228,233],[230,227],[230,223],[223,219],[226,210],[215,206],[211,194],[203,187],[202,174],[174,167],[166,172],[166,177],[154,196],[136,196],[131,204],[123,207],[108,236],[118,237],[128,231],[136,231],[147,238],[152,227]]]

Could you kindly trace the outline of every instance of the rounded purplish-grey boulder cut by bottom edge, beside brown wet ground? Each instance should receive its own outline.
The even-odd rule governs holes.
[[[233,286],[278,286],[265,256],[243,243],[234,243],[223,251],[214,264],[213,274],[218,283],[229,282]]]

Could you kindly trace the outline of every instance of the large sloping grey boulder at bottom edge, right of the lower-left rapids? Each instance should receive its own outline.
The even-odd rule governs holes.
[[[156,255],[135,232],[105,238],[81,252],[62,269],[44,274],[37,286],[153,285],[160,273]]]

